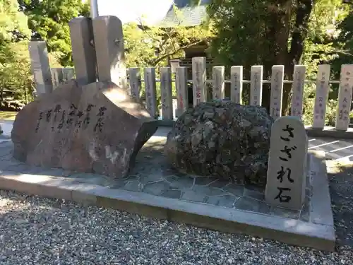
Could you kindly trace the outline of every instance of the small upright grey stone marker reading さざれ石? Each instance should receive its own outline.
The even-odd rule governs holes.
[[[301,209],[305,198],[308,136],[299,117],[284,116],[271,129],[265,200],[273,206]]]

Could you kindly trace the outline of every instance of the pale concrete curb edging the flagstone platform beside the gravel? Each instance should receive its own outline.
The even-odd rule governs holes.
[[[109,189],[94,184],[83,184],[75,179],[47,175],[30,175],[10,171],[0,174],[0,188],[26,194],[72,200],[83,204],[115,208],[152,218],[187,223],[222,232],[244,233],[285,242],[291,245],[313,247],[326,251],[335,249],[335,230],[328,203],[325,158],[312,155],[311,174],[313,184],[323,189],[313,189],[311,213],[313,223],[289,218],[268,216],[261,213],[229,209],[179,199],[169,199],[150,194]],[[318,205],[316,205],[318,204]]]

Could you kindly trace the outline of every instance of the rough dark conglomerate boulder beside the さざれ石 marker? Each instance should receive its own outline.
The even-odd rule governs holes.
[[[164,152],[181,172],[263,187],[272,124],[262,107],[202,102],[179,117]]]

